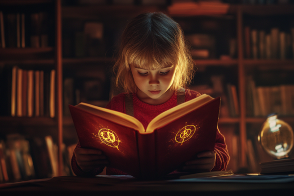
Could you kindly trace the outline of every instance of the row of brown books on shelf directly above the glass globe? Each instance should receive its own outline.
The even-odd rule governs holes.
[[[294,115],[294,85],[256,86],[249,76],[246,91],[248,116]]]

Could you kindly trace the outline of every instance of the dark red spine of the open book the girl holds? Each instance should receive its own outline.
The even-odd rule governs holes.
[[[156,176],[156,151],[155,151],[155,133],[139,134],[137,133],[138,153],[140,163],[140,176],[148,179]]]

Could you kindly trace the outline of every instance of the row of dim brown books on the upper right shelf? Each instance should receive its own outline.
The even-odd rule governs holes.
[[[245,26],[245,57],[254,59],[294,58],[294,28],[290,32],[271,28],[265,30],[250,29]]]

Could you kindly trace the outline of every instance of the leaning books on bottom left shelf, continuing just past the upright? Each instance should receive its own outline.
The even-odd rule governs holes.
[[[25,138],[10,134],[0,140],[0,182],[58,176],[58,147],[51,136]],[[63,148],[63,175],[73,175],[70,160],[75,145]]]

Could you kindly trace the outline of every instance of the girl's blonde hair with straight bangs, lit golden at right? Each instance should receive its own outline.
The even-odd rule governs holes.
[[[176,69],[171,90],[186,87],[194,76],[194,64],[179,24],[163,13],[140,14],[131,20],[121,37],[118,59],[114,65],[117,87],[136,93],[130,65],[157,70]]]

